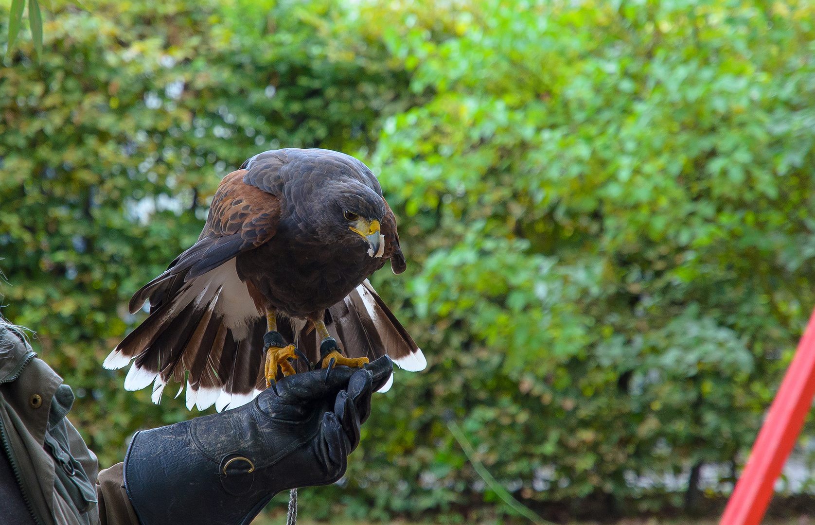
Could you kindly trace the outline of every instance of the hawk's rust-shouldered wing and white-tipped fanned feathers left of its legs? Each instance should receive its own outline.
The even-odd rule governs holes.
[[[215,192],[204,231],[190,249],[130,300],[137,311],[150,299],[150,316],[108,355],[105,368],[135,358],[127,390],[154,382],[153,400],[174,377],[187,377],[187,407],[245,403],[265,386],[262,347],[265,323],[235,257],[275,235],[280,196],[244,183],[246,170],[228,174]],[[180,394],[181,390],[179,390]]]

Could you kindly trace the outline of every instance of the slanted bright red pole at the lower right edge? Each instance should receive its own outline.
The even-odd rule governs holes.
[[[815,395],[815,311],[719,525],[759,525]]]

